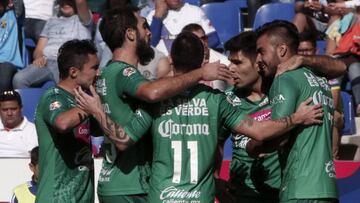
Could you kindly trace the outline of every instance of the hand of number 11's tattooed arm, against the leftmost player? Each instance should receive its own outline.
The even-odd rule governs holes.
[[[74,92],[77,105],[80,109],[91,115],[102,111],[100,97],[96,93],[94,86],[90,86],[91,95],[84,92],[81,87],[75,88]]]

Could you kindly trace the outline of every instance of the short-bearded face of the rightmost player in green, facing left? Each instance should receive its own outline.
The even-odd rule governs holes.
[[[256,40],[256,62],[265,77],[274,77],[280,59],[276,53],[276,47],[270,42],[270,38],[264,34]]]

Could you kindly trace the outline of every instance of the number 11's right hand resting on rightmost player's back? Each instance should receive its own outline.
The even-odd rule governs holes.
[[[312,125],[323,123],[323,109],[321,104],[310,105],[312,98],[308,98],[300,104],[297,111],[292,116],[295,124]]]

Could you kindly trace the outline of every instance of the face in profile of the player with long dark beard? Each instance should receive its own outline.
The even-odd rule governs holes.
[[[140,64],[146,65],[154,58],[154,50],[150,46],[151,32],[145,18],[138,14],[136,14],[136,18],[138,20],[136,54],[139,57]]]

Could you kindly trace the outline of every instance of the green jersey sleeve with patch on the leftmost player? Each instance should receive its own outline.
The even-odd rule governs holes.
[[[43,107],[44,120],[53,125],[57,116],[68,110],[68,108],[65,107],[66,102],[66,98],[59,95],[51,95],[46,98],[45,105]]]

